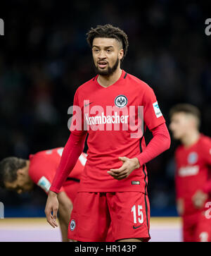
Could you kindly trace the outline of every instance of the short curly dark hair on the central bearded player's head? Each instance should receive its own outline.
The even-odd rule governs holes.
[[[124,57],[127,54],[127,49],[129,46],[127,35],[123,30],[120,30],[120,28],[114,27],[110,24],[97,25],[96,28],[91,28],[91,30],[87,32],[87,42],[89,44],[89,47],[92,47],[93,40],[96,37],[117,39],[122,44],[122,49],[124,50],[124,55],[121,59],[121,61],[123,61]]]

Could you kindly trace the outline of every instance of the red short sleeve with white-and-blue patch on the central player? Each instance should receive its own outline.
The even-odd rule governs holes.
[[[143,95],[143,121],[148,126],[149,130],[165,123],[165,118],[162,116],[158,101],[155,97],[153,89],[146,85],[146,90]]]

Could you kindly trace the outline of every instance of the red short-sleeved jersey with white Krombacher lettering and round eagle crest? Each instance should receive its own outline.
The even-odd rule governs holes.
[[[98,75],[81,85],[74,98],[70,130],[75,135],[89,133],[87,163],[79,191],[146,193],[146,166],[135,169],[121,181],[107,171],[122,166],[118,157],[133,158],[145,149],[143,130],[146,126],[151,130],[165,123],[155,94],[146,83],[125,71],[109,87],[101,86],[97,78]],[[76,106],[82,111],[81,121],[76,114]],[[142,106],[143,113],[139,111],[139,106]]]

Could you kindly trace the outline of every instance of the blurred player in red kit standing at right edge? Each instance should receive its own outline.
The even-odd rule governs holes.
[[[191,104],[170,110],[175,152],[177,210],[185,242],[211,242],[211,139],[199,131],[200,111]]]

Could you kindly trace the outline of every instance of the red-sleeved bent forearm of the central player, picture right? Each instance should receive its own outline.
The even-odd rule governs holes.
[[[153,138],[148,143],[144,152],[141,152],[136,158],[139,159],[140,165],[146,164],[159,154],[170,148],[170,133],[165,123],[152,130]]]

